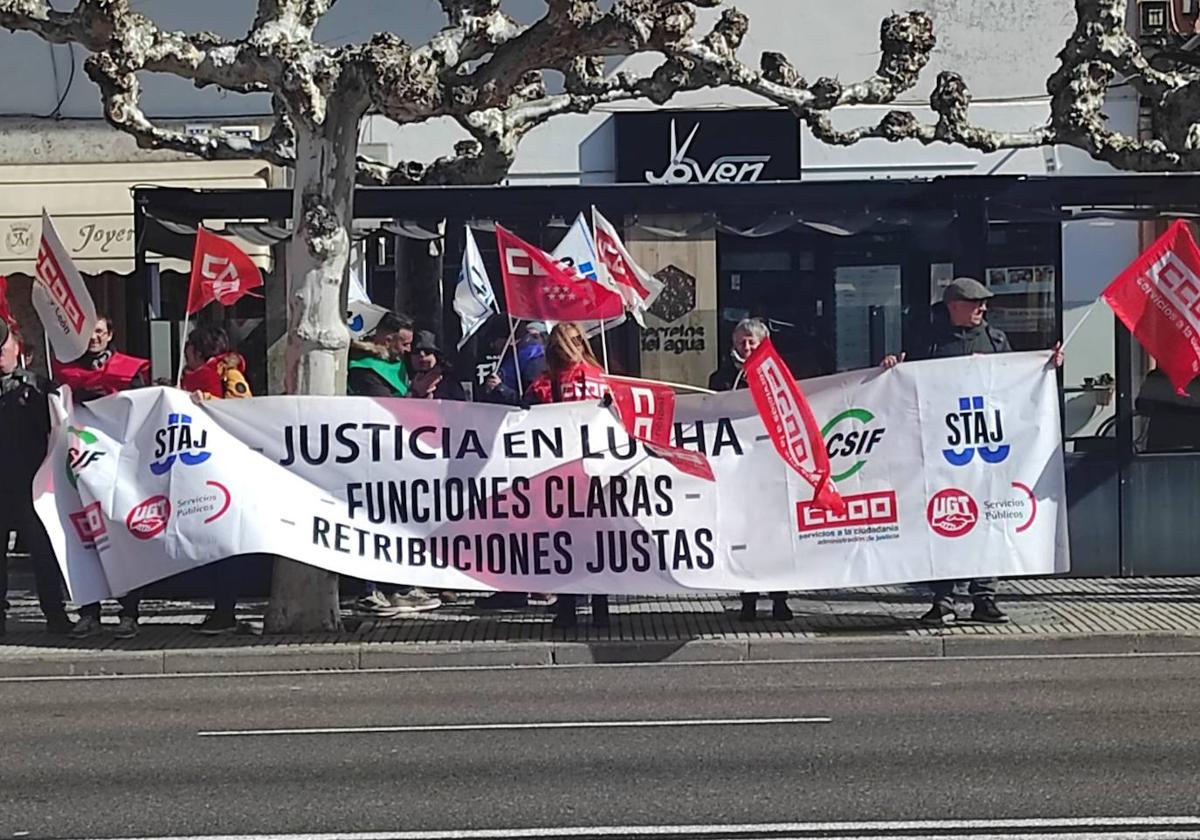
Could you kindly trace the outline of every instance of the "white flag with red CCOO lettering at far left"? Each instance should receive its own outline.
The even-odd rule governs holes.
[[[46,337],[59,361],[74,361],[88,352],[88,341],[96,328],[96,305],[44,208],[34,274],[31,298]]]

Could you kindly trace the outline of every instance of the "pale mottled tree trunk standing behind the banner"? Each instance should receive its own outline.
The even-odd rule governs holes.
[[[353,97],[347,96],[347,100]],[[288,245],[288,394],[346,394],[346,292],[360,114],[330,97],[323,126],[296,125]],[[341,630],[337,575],[276,558],[265,631]]]

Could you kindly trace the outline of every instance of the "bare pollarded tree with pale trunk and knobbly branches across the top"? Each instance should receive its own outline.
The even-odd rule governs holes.
[[[260,158],[295,169],[287,252],[290,394],[331,395],[344,384],[341,287],[355,184],[494,182],[533,127],[606,102],[664,103],[682,90],[728,85],[791,109],[833,144],[876,137],[994,151],[1058,143],[1126,169],[1200,168],[1200,73],[1151,67],[1126,31],[1127,0],[1075,0],[1075,32],[1046,83],[1050,121],[1021,133],[971,125],[970,91],[952,72],[940,74],[930,100],[935,124],[892,110],[876,125],[833,127],[834,108],[889,104],[918,83],[936,46],[923,12],[883,20],[880,64],[869,78],[809,84],[780,54],[764,54],[758,70],[738,59],[749,22],[737,10],[725,10],[710,31],[695,35],[696,10],[720,0],[616,0],[608,11],[598,0],[547,0],[546,13],[532,24],[505,14],[500,0],[440,0],[446,26],[425,44],[382,32],[366,43],[326,47],[313,40],[313,30],[334,2],[258,0],[246,36],[226,40],[164,31],[134,12],[130,0],[77,0],[66,12],[54,11],[48,0],[0,0],[0,25],[90,52],[86,71],[101,89],[108,121],[142,146]],[[642,53],[660,56],[653,71],[606,73],[606,60]],[[547,71],[562,74],[559,92],[547,90]],[[263,140],[248,140],[155,125],[139,104],[139,72],[170,73],[200,88],[268,92],[274,130]],[[1118,79],[1133,84],[1152,108],[1159,128],[1154,139],[1106,128],[1100,107]],[[358,128],[368,114],[398,124],[451,118],[472,139],[432,163],[388,167],[359,155]],[[272,587],[269,630],[338,626],[335,576],[281,560]]]

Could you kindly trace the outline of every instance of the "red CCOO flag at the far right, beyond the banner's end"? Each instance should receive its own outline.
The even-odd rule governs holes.
[[[1172,222],[1100,296],[1187,395],[1200,373],[1200,248],[1187,223]]]

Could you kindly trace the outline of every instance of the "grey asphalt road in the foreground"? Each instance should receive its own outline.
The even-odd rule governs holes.
[[[1157,820],[1200,816],[1198,672],[1127,656],[5,680],[0,838],[1042,838],[1102,816],[1148,818],[1086,836],[1200,836]],[[811,824],[827,821],[875,827]]]

